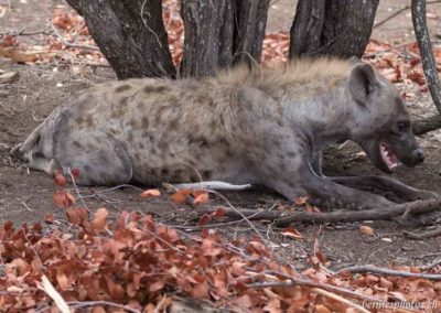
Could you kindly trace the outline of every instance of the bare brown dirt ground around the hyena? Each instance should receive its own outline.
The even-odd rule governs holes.
[[[380,1],[377,21],[381,21],[407,1]],[[410,2],[410,1],[409,1]],[[0,0],[0,6],[8,8],[0,18],[0,33],[10,30],[36,31],[47,29],[46,21],[55,7],[66,6],[63,1],[49,0]],[[11,6],[11,7],[10,7]],[[269,31],[288,30],[294,12],[294,1],[276,1],[270,11]],[[12,9],[10,11],[9,9]],[[441,6],[430,6],[429,11],[435,18],[429,20],[434,40],[441,36]],[[438,14],[438,15],[437,15]],[[374,37],[389,42],[413,41],[408,12],[374,30]],[[32,41],[33,39],[28,39]],[[12,220],[15,225],[40,222],[49,214],[55,215],[50,228],[65,225],[63,212],[55,207],[52,194],[55,191],[53,180],[43,173],[29,173],[21,164],[9,156],[11,147],[21,142],[56,106],[63,104],[71,93],[95,82],[115,79],[107,68],[94,68],[73,72],[61,64],[19,65],[0,58],[1,71],[14,71],[19,78],[11,84],[0,85],[0,223]],[[421,94],[418,101],[409,104],[412,116],[427,116],[433,112],[430,97]],[[399,169],[394,176],[419,188],[441,193],[441,132],[432,132],[419,139],[427,153],[427,161],[416,169]],[[333,174],[372,174],[377,170],[365,159],[357,156],[359,149],[347,145],[333,149],[325,158],[325,173]],[[101,191],[101,193],[98,193]],[[75,194],[75,191],[72,191]],[[122,209],[151,213],[159,220],[174,225],[187,231],[194,228],[191,208],[176,205],[165,194],[157,199],[141,199],[139,191],[127,187],[108,191],[101,187],[80,188],[90,208],[106,206],[115,213]],[[225,193],[225,196],[238,208],[271,208],[287,202],[269,191]],[[213,206],[222,205],[220,199],[213,199]],[[374,236],[361,234],[361,224],[374,228]],[[331,267],[341,268],[349,265],[375,263],[426,265],[441,255],[441,237],[427,240],[409,240],[404,230],[421,231],[421,228],[404,227],[394,222],[365,222],[332,225],[293,225],[304,236],[304,240],[292,240],[280,235],[275,227],[256,224],[267,236],[276,251],[286,261],[298,268],[306,267],[308,256],[314,242],[331,261]],[[222,231],[241,234],[249,231],[245,223],[222,227]]]

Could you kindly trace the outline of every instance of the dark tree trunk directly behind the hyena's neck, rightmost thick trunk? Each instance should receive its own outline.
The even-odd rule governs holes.
[[[290,58],[306,55],[361,57],[379,0],[299,0],[291,26]]]

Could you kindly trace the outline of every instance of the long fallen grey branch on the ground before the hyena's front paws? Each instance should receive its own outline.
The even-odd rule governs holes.
[[[336,222],[358,222],[358,220],[378,220],[390,219],[408,214],[422,214],[435,209],[441,209],[441,198],[416,201],[404,204],[397,204],[388,208],[374,208],[366,211],[344,211],[344,212],[298,212],[290,214],[286,211],[261,211],[256,214],[256,209],[240,209],[238,213],[228,207],[225,208],[225,215],[228,217],[247,217],[249,219],[273,220],[278,226],[286,226],[293,222],[313,222],[313,223],[336,223]],[[215,209],[197,208],[201,216],[209,214]],[[288,215],[289,214],[289,215]]]

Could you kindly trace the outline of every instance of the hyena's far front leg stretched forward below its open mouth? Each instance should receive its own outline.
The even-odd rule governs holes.
[[[440,196],[434,192],[417,190],[387,176],[341,176],[329,179],[347,187],[380,194],[397,203]]]

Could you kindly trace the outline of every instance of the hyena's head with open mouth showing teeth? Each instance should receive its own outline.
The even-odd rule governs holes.
[[[358,143],[383,172],[391,173],[399,162],[415,166],[424,161],[405,104],[392,84],[369,64],[356,64],[348,78],[355,120],[351,139]]]

